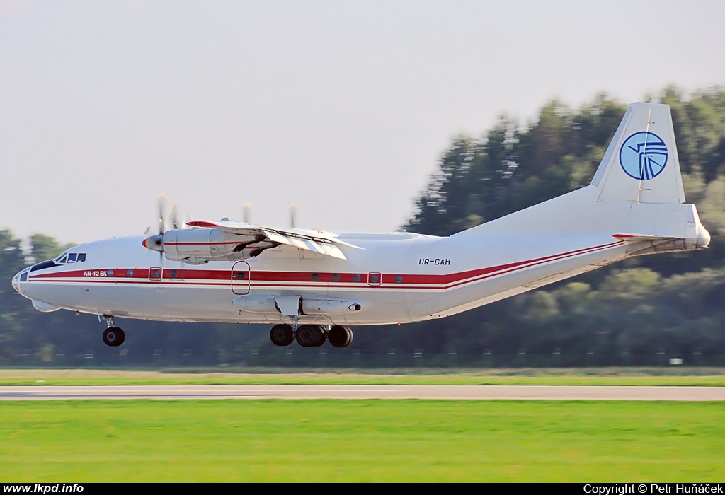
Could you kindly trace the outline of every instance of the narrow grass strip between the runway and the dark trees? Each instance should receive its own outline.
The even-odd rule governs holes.
[[[384,374],[387,373],[387,374]],[[435,374],[434,374],[435,373]],[[725,386],[724,368],[525,368],[485,371],[385,370],[379,374],[162,373],[159,371],[6,369],[0,385],[681,385]]]

